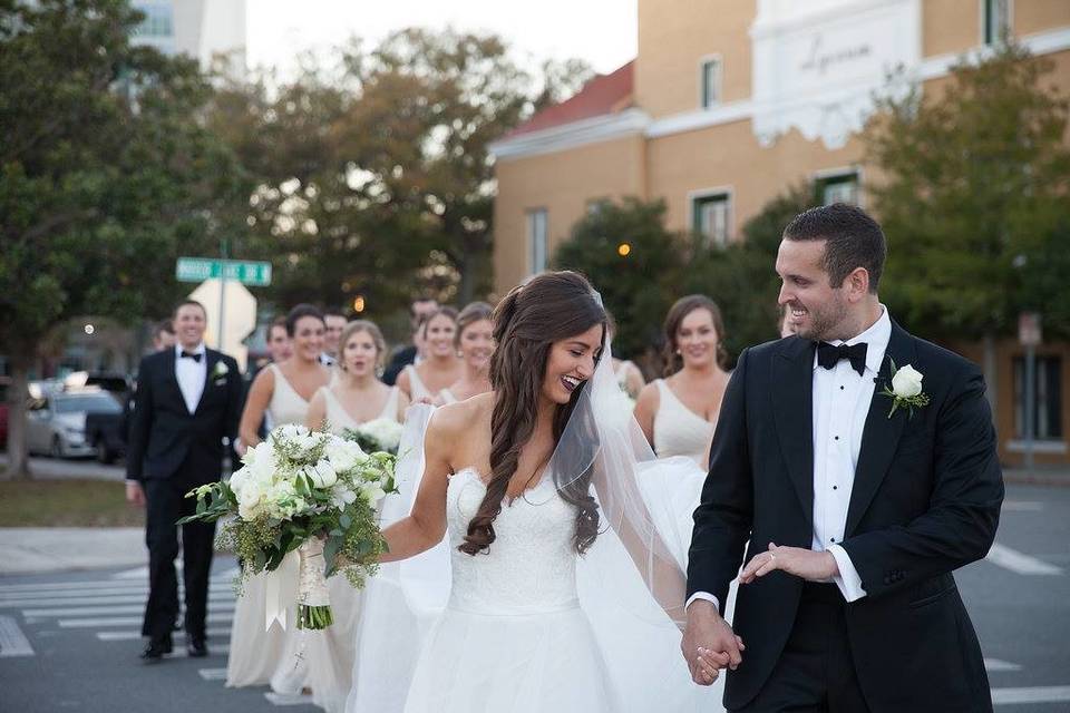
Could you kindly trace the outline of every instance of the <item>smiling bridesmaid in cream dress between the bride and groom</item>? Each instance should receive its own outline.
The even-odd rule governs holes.
[[[667,378],[643,387],[635,420],[658,456],[687,456],[704,468],[729,378],[721,311],[706,295],[688,295],[669,310],[664,330]]]

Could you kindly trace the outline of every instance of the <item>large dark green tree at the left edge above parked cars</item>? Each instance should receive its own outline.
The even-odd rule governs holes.
[[[79,314],[158,316],[178,246],[228,229],[247,196],[200,124],[192,60],[134,47],[125,0],[0,2],[0,344],[10,360],[9,475],[27,477],[27,375]]]

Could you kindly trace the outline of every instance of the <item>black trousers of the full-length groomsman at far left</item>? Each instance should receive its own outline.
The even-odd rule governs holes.
[[[215,522],[175,525],[178,518],[193,515],[196,499],[184,497],[196,487],[182,472],[171,478],[142,482],[146,499],[145,544],[148,545],[148,602],[142,635],[153,641],[171,636],[178,616],[178,529],[182,528],[182,579],[185,587],[185,629],[191,636],[204,636],[208,603],[208,576]]]

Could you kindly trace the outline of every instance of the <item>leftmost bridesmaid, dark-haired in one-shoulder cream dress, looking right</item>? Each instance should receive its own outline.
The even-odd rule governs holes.
[[[269,417],[273,426],[304,423],[309,400],[330,380],[330,370],[320,363],[323,351],[323,315],[310,304],[299,304],[286,315],[286,334],[292,355],[261,370],[249,390],[239,433],[245,448],[260,443],[257,431]],[[286,642],[294,638],[294,612],[288,614],[288,628],[272,625],[264,631],[264,576],[245,582],[245,590],[234,606],[231,653],[226,662],[227,686],[268,683],[285,661]]]

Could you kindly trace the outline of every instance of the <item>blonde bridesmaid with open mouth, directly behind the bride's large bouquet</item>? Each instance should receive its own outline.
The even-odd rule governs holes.
[[[305,426],[341,434],[376,419],[400,422],[409,406],[398,387],[379,379],[386,362],[387,345],[373,322],[350,322],[339,340],[338,379],[320,388],[309,406]],[[308,638],[308,675],[303,686],[312,690],[312,700],[328,713],[342,713],[352,687],[357,655],[357,624],[361,592],[339,573],[327,580],[334,624]]]

